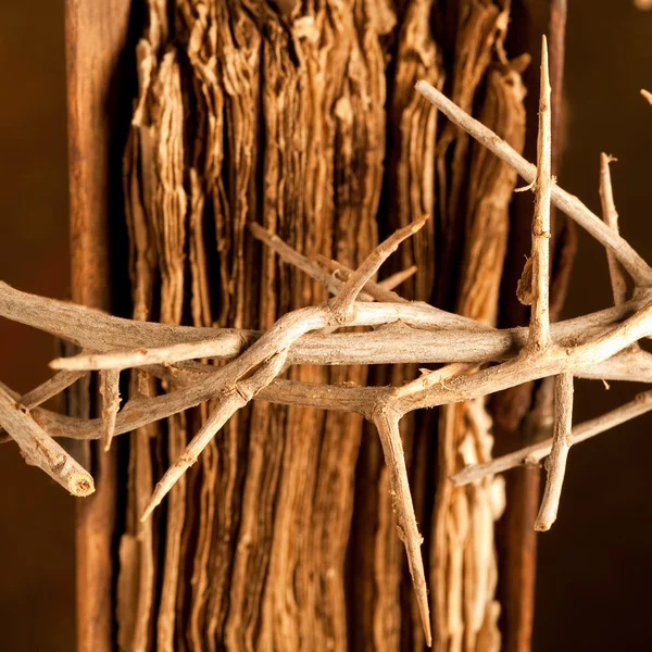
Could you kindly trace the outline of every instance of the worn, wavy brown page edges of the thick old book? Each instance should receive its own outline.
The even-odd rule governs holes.
[[[124,163],[136,319],[265,330],[326,293],[261,248],[248,222],[311,259],[356,268],[378,231],[429,213],[401,250],[397,268],[417,266],[402,296],[494,323],[515,175],[413,85],[447,85],[521,150],[523,62],[504,50],[507,2],[146,7]],[[401,385],[417,369],[374,375]],[[115,376],[102,374],[106,441]],[[130,399],[176,388],[159,378],[135,372]],[[363,385],[367,371],[303,365],[287,378]],[[120,505],[121,645],[419,648],[388,471],[358,414],[255,401],[210,439],[165,509],[140,524],[153,481],[212,409],[143,425],[130,440]],[[452,494],[444,481],[463,462],[490,456],[490,417],[484,399],[447,409],[434,478],[437,444],[424,434],[436,421],[406,417],[401,428],[431,555],[437,647],[497,649],[500,480]]]

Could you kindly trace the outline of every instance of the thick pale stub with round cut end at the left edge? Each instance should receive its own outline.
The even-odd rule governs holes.
[[[91,475],[63,450],[0,388],[0,425],[18,444],[27,464],[38,466],[73,496],[88,496],[95,491]]]

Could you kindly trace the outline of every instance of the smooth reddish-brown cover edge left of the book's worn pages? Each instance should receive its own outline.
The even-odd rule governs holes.
[[[118,64],[127,40],[129,0],[67,0],[68,167],[72,298],[109,310],[110,199],[121,195],[116,142]],[[112,532],[116,453],[83,452],[97,491],[77,507],[77,649],[113,649]]]

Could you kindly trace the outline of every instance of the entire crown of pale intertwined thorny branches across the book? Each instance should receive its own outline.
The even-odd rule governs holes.
[[[416,233],[426,217],[393,234],[356,271],[333,261],[321,266],[277,236],[252,224],[254,237],[289,264],[322,283],[334,297],[319,305],[283,316],[266,333],[189,328],[112,317],[78,305],[20,292],[0,283],[0,315],[37,327],[77,344],[79,355],[58,359],[48,383],[24,397],[0,385],[0,425],[30,464],[40,466],[75,496],[93,491],[92,477],[54,440],[99,439],[109,449],[114,435],[128,432],[213,399],[208,421],[158,484],[142,519],[224,424],[252,400],[358,412],[378,429],[389,468],[399,536],[405,546],[426,640],[430,617],[418,531],[400,435],[401,418],[414,410],[482,397],[523,383],[555,377],[555,424],[551,440],[504,457],[468,467],[451,478],[455,485],[478,481],[517,464],[549,455],[548,482],[536,528],[550,528],[557,513],[570,444],[652,410],[652,392],[586,424],[572,427],[573,378],[652,383],[652,358],[638,348],[652,335],[652,268],[618,234],[609,159],[601,160],[604,221],[550,176],[550,84],[546,40],[542,48],[537,166],[464,113],[441,92],[419,82],[416,89],[447,117],[489,148],[524,177],[536,195],[531,259],[519,297],[531,302],[529,328],[496,329],[392,291],[414,273],[406,269],[383,284],[373,280],[383,262]],[[550,203],[586,228],[607,252],[615,305],[582,317],[550,324]],[[330,273],[329,271],[335,271]],[[627,291],[624,276],[631,277]],[[337,333],[367,326],[365,333]],[[223,366],[215,360],[227,361]],[[200,362],[204,361],[204,362]],[[289,365],[439,363],[436,371],[402,387],[314,385],[281,379]],[[164,396],[129,398],[120,410],[121,372],[138,368],[165,379]],[[91,371],[100,373],[101,419],[79,419],[39,405]]]

